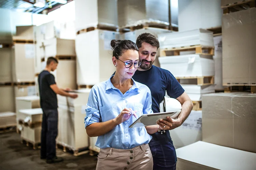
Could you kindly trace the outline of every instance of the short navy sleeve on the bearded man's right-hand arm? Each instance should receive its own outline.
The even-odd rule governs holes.
[[[175,79],[171,72],[168,72],[167,79],[167,95],[171,98],[178,98],[184,93],[184,89],[180,83]]]

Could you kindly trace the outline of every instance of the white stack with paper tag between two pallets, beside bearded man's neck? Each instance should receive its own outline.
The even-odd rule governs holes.
[[[214,61],[209,55],[166,56],[159,57],[158,60],[161,68],[169,70],[174,77],[202,77],[215,73]]]

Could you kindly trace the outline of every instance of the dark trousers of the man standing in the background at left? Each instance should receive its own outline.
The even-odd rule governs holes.
[[[58,110],[43,109],[41,131],[41,158],[53,159],[56,156],[56,137],[58,135]]]

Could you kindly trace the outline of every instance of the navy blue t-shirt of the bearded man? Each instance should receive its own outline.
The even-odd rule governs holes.
[[[184,89],[180,83],[175,79],[170,71],[152,66],[146,71],[136,71],[132,78],[150,88],[152,95],[152,111],[159,113],[159,104],[165,97],[166,91],[171,98],[178,98],[184,93]],[[156,132],[151,134],[153,137],[149,143],[150,146],[161,145],[171,141],[170,132],[166,133]]]

